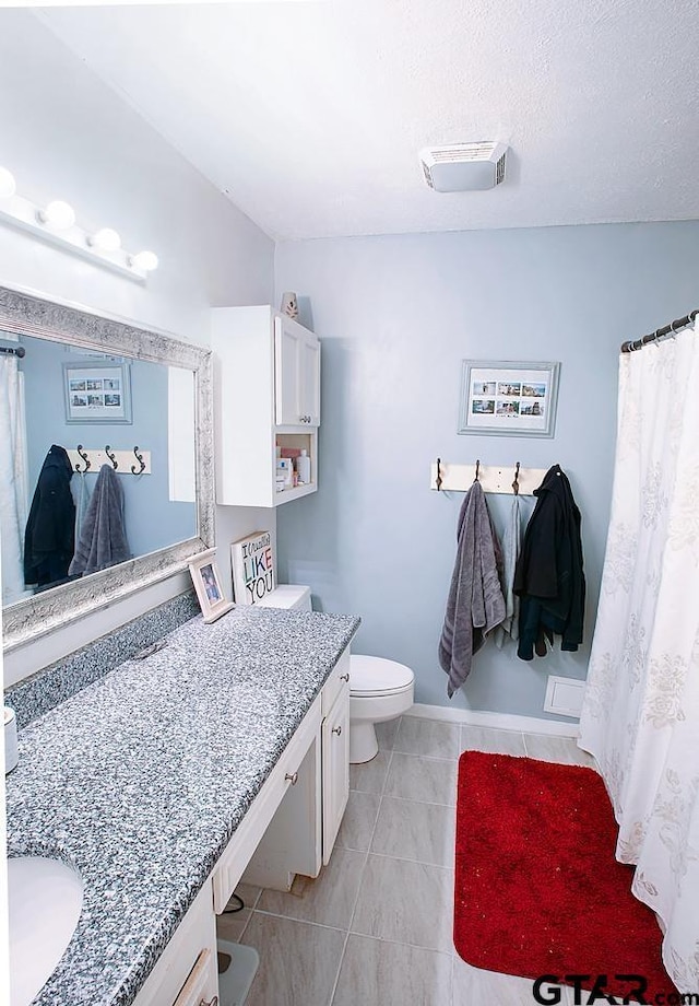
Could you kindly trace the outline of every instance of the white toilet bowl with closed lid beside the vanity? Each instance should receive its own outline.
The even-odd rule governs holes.
[[[395,720],[413,704],[415,675],[405,664],[350,656],[350,763],[370,761],[379,750],[376,724]]]

